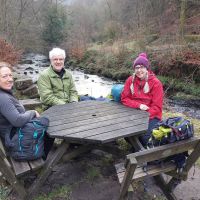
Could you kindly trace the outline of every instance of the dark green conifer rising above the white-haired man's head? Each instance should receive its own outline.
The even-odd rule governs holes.
[[[46,11],[42,38],[50,46],[59,45],[66,37],[67,16],[62,7],[56,5]]]

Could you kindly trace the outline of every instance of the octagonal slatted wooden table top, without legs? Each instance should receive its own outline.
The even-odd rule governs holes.
[[[149,115],[116,102],[82,101],[57,105],[43,115],[50,120],[52,138],[66,142],[104,144],[144,133]]]

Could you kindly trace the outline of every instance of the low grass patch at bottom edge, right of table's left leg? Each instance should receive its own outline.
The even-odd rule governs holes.
[[[44,195],[40,195],[34,200],[55,200],[64,198],[66,200],[70,200],[72,189],[71,186],[63,186],[58,189],[54,189],[52,192]]]

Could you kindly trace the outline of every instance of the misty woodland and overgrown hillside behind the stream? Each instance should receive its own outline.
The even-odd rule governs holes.
[[[67,52],[68,66],[124,81],[132,73],[132,61],[146,51],[167,89],[200,96],[200,0],[0,4],[1,60],[15,64],[22,53],[48,55],[60,46]]]

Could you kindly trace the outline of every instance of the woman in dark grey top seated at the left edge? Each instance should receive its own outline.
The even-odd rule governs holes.
[[[11,65],[0,62],[0,137],[3,142],[6,134],[14,134],[16,127],[22,127],[31,119],[40,116],[36,110],[26,111],[24,106],[13,96],[13,84]],[[47,155],[53,139],[46,136],[44,142],[44,150]]]

